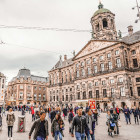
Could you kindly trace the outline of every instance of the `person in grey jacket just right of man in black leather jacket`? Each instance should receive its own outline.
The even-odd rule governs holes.
[[[95,135],[94,135],[94,129],[95,129],[95,119],[93,117],[93,113],[91,109],[87,109],[87,115],[86,115],[86,122],[89,127],[89,129],[86,129],[86,135],[87,135],[87,140],[95,140]]]

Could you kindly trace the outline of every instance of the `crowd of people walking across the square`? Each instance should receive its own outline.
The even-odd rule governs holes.
[[[7,113],[5,113],[8,111]],[[6,122],[8,128],[8,140],[12,140],[13,126],[15,122],[14,111],[21,112],[25,116],[28,112],[32,116],[33,125],[29,132],[29,139],[31,139],[34,131],[34,140],[48,140],[49,136],[49,121],[51,123],[51,135],[54,140],[64,139],[65,121],[69,122],[69,134],[76,140],[95,140],[95,127],[98,125],[98,118],[100,116],[100,109],[92,110],[90,106],[85,108],[80,106],[15,106],[15,107],[0,107],[0,126],[2,125],[2,117],[6,115]],[[133,114],[135,124],[139,124],[140,107],[135,106],[129,109],[127,106],[124,109],[119,109],[118,106],[107,109],[106,125],[108,127],[108,135],[119,134],[120,113],[124,113],[126,124],[131,124],[131,117]],[[47,117],[48,115],[48,117]],[[46,119],[48,118],[48,119]]]

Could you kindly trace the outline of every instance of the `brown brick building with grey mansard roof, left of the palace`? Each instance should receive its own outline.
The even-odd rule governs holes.
[[[29,69],[20,69],[18,75],[8,83],[7,105],[46,105],[47,77],[31,75]]]

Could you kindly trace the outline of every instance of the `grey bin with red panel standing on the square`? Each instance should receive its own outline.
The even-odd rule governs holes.
[[[25,116],[18,116],[18,132],[25,132]]]

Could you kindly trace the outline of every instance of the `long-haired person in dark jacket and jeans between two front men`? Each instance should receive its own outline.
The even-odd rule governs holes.
[[[54,140],[58,140],[58,136],[59,140],[62,140],[62,136],[64,137],[63,130],[64,130],[64,122],[61,118],[60,112],[57,112],[51,126],[51,133],[52,136],[54,137]]]

